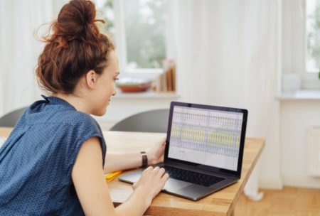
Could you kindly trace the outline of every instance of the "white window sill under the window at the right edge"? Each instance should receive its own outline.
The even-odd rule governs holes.
[[[320,100],[320,90],[298,90],[296,92],[282,92],[277,96],[280,101],[285,100]]]

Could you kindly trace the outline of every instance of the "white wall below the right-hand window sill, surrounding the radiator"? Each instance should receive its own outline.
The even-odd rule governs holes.
[[[281,171],[284,185],[320,188],[306,173],[306,131],[320,126],[320,100],[284,100],[281,107]]]

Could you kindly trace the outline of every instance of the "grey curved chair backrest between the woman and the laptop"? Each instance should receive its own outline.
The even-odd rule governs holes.
[[[169,109],[154,109],[134,114],[112,126],[110,131],[166,133]]]

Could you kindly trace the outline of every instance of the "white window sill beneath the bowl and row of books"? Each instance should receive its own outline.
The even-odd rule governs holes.
[[[122,93],[120,90],[112,99],[178,99],[180,96],[175,92],[134,92]]]

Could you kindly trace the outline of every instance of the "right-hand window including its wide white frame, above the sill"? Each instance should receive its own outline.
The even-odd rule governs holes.
[[[282,73],[294,74],[302,90],[320,90],[320,0],[282,1]]]

